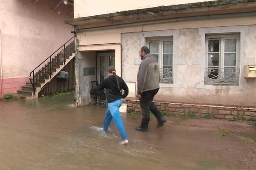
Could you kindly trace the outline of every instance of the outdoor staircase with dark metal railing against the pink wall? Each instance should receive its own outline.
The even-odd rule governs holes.
[[[36,99],[38,93],[55,77],[68,62],[75,57],[74,37],[68,40],[64,45],[58,48],[52,55],[39,64],[30,72],[29,80],[17,94],[13,94],[13,98],[20,99]],[[54,56],[54,54],[57,55]],[[54,57],[52,57],[54,56]]]

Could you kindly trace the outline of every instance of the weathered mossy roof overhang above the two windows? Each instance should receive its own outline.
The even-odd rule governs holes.
[[[145,21],[256,11],[256,0],[218,0],[172,6],[158,6],[111,14],[65,20],[76,28],[97,28]]]

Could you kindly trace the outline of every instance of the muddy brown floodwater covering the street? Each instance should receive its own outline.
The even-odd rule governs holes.
[[[31,101],[0,101],[0,170],[255,170],[256,145],[235,136],[212,134],[234,125],[256,134],[250,125],[167,117],[149,132],[137,132],[141,116],[122,113],[129,140],[113,122],[102,131],[106,106],[75,107],[73,95]],[[197,122],[199,121],[199,122]],[[209,122],[206,122],[209,121]],[[223,120],[222,120],[223,121]]]

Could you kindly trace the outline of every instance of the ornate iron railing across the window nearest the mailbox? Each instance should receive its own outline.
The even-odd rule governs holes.
[[[239,68],[206,68],[205,85],[239,85]]]

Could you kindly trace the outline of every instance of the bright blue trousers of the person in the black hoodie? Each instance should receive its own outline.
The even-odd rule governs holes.
[[[103,130],[107,132],[110,122],[113,119],[117,129],[119,130],[122,140],[125,141],[127,140],[127,136],[126,136],[125,127],[122,123],[122,119],[119,112],[119,108],[121,105],[122,105],[122,98],[114,102],[108,103],[108,110],[106,112]]]

